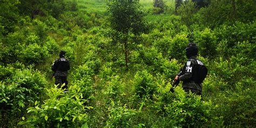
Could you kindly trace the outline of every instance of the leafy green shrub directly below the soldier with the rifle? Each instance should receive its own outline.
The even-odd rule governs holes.
[[[202,102],[200,96],[191,92],[185,95],[183,92],[165,109],[174,126],[219,126],[221,119],[213,114],[217,107],[211,101]]]

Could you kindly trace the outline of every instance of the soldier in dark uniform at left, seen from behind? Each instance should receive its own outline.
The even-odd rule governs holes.
[[[55,72],[55,84],[60,88],[62,84],[65,85],[62,89],[68,90],[68,70],[70,70],[69,60],[65,58],[65,51],[60,51],[59,58],[52,64],[52,71]]]

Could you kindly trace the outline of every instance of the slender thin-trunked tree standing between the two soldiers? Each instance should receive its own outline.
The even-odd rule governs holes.
[[[138,36],[147,30],[145,11],[139,0],[114,0],[108,4],[107,10],[110,12],[111,28],[115,31],[111,36],[121,37],[118,42],[124,44],[125,65],[128,68],[129,33]]]

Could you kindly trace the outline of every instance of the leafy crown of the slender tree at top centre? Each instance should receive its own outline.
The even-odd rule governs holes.
[[[112,29],[123,34],[138,33],[145,28],[145,12],[138,1],[113,1],[108,5]]]

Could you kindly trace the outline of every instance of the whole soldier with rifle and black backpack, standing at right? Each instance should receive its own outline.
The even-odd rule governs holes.
[[[183,81],[182,87],[185,92],[191,91],[197,95],[202,95],[201,83],[203,83],[203,80],[207,75],[207,68],[197,59],[197,44],[190,43],[185,50],[188,60],[174,80]]]

